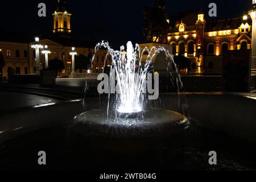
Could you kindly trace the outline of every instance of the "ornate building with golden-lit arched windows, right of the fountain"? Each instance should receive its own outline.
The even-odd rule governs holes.
[[[207,21],[200,9],[165,20],[170,25],[168,35],[158,34],[146,26],[144,34],[148,42],[170,44],[174,55],[191,59],[192,73],[220,75],[222,52],[251,49],[252,22],[247,14],[238,18]]]

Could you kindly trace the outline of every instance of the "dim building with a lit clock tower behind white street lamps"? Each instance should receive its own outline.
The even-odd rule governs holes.
[[[69,55],[72,47],[76,47],[77,55],[82,54],[88,56],[94,51],[94,43],[78,40],[73,38],[71,30],[71,14],[68,13],[67,1],[56,1],[56,11],[53,15],[53,30],[52,36],[41,38],[40,44],[47,45],[51,54],[49,60],[62,60],[65,69],[59,73],[60,77],[68,77],[72,69],[72,57]],[[13,68],[16,74],[35,73],[36,69],[36,53],[35,49],[31,48],[34,43],[34,37],[31,35],[1,32],[0,34],[0,53],[5,59],[5,67],[2,69],[3,77],[7,78],[7,70]],[[41,50],[42,51],[42,50]],[[40,67],[44,68],[44,55],[40,51]],[[100,49],[93,63],[93,73],[103,71],[104,59],[106,51]],[[109,64],[106,63],[107,65]],[[79,70],[77,70],[79,72]],[[87,70],[82,70],[87,72]]]

